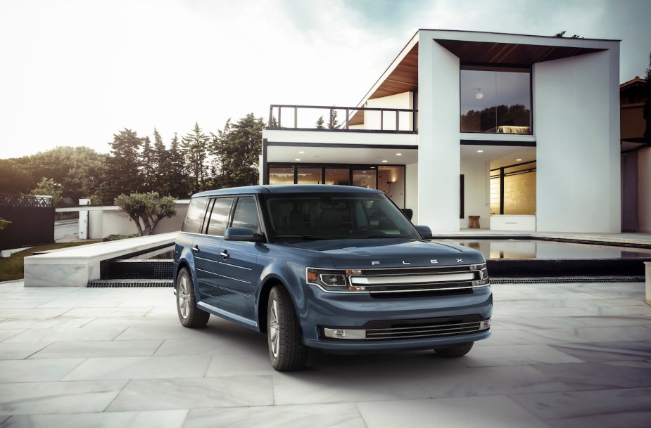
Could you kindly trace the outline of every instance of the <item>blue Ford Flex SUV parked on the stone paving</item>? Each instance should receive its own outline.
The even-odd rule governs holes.
[[[190,201],[174,255],[179,320],[212,313],[267,334],[276,370],[308,349],[434,349],[463,356],[491,335],[481,253],[431,242],[378,190],[251,186]]]

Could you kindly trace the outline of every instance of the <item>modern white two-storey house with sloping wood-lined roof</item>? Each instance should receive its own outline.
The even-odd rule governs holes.
[[[619,114],[617,40],[419,30],[358,105],[272,105],[260,183],[378,188],[438,233],[619,233]]]

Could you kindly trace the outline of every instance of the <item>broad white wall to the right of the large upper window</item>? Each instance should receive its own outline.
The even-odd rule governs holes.
[[[619,233],[619,44],[533,66],[538,231]]]

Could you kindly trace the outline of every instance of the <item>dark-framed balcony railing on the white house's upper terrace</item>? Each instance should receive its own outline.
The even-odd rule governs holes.
[[[268,129],[380,131],[416,134],[418,110],[272,104]]]

